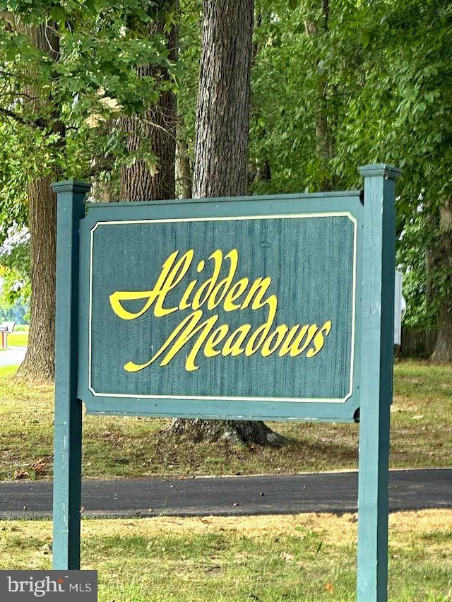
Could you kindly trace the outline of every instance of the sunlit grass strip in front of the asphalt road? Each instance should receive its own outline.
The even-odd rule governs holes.
[[[82,521],[100,602],[355,600],[355,514]],[[1,521],[0,569],[50,569],[49,521]],[[415,532],[413,532],[415,531]],[[452,512],[389,517],[389,600],[450,602]]]

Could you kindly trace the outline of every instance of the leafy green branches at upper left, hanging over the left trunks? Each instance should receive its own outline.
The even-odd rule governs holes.
[[[174,85],[159,76],[174,68],[165,36],[155,28],[157,22],[165,23],[162,32],[171,27],[171,6],[141,0],[0,3],[0,117],[21,161],[18,168],[9,160],[12,181],[0,175],[9,196],[51,168],[62,178],[90,179],[130,161],[121,115],[142,112]],[[27,35],[31,26],[46,23],[58,38],[57,57]],[[149,74],[143,66],[155,70]]]

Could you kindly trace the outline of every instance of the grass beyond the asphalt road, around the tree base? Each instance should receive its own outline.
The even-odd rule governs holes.
[[[14,382],[0,369],[0,480],[51,478],[53,387]],[[451,466],[452,370],[396,364],[391,408],[393,468]],[[273,423],[282,449],[194,443],[169,435],[169,420],[85,416],[85,477],[278,474],[357,468],[358,425]]]

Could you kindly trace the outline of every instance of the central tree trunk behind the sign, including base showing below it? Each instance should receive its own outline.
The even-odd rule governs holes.
[[[195,198],[246,194],[246,151],[254,0],[204,0],[196,110]],[[250,420],[173,420],[190,439],[281,445],[284,438]]]

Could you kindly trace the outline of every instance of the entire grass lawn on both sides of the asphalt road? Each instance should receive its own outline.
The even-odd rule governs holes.
[[[0,480],[51,478],[53,387],[0,369]],[[452,370],[396,365],[391,466],[450,466]],[[357,467],[357,425],[273,427],[282,449],[194,444],[169,421],[85,416],[83,471],[100,476],[294,473]],[[82,568],[100,602],[352,602],[357,517],[83,519]],[[50,569],[49,521],[0,521],[0,569]],[[452,601],[452,511],[389,517],[389,601]]]

